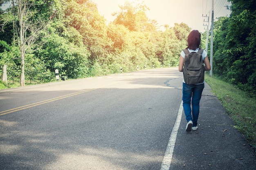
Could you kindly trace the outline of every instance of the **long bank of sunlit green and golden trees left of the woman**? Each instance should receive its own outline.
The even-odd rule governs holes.
[[[9,1],[0,1],[4,2]],[[11,2],[14,8],[0,11],[0,67],[7,65],[8,83],[22,77],[21,53],[27,84],[53,81],[55,69],[63,79],[75,79],[118,73],[121,67],[134,71],[137,66],[177,66],[191,30],[184,23],[159,30],[140,3],[120,6],[116,19],[107,25],[91,0]],[[20,8],[27,13],[19,13]]]

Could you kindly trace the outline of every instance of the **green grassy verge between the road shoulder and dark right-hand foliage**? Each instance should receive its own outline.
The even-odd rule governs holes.
[[[256,150],[256,99],[250,98],[246,92],[240,91],[231,84],[209,75],[205,81],[218,97],[237,128]]]

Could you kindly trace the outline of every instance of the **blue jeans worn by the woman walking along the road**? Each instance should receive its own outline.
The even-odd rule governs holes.
[[[182,88],[182,100],[183,100],[183,109],[186,115],[186,120],[193,121],[193,127],[198,124],[198,115],[199,115],[199,102],[202,96],[204,89],[203,84],[186,84],[183,83]],[[192,97],[192,102],[191,102]],[[191,103],[192,103],[192,115],[191,115]]]

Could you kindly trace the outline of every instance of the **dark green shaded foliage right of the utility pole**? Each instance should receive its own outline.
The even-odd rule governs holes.
[[[230,17],[215,22],[213,73],[256,96],[256,1],[229,0]]]

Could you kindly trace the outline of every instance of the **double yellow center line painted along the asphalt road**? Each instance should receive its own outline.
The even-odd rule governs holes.
[[[118,83],[114,83],[114,84],[121,84],[121,83],[118,82]],[[110,84],[110,85],[107,85],[107,86],[111,86],[111,85],[114,85],[114,84]],[[71,96],[74,96],[74,95],[79,95],[81,93],[86,93],[86,92],[89,92],[89,91],[94,91],[94,90],[97,90],[99,88],[103,88],[103,87],[107,87],[107,86],[106,85],[105,86],[99,86],[97,88],[91,88],[91,89],[88,89],[88,90],[79,91],[79,92],[76,92],[76,93],[71,93],[71,94],[68,94],[68,95],[63,95],[63,96],[55,97],[55,98],[52,98],[52,99],[47,99],[47,100],[44,100],[44,101],[41,101],[41,102],[36,102],[36,103],[28,104],[28,105],[25,105],[25,106],[20,106],[20,107],[12,108],[12,109],[9,109],[9,110],[4,110],[4,111],[0,112],[0,116],[6,115],[8,113],[13,113],[13,112],[16,112],[16,111],[19,111],[19,110],[24,110],[26,108],[31,108],[31,107],[34,107],[34,106],[38,106],[38,105],[41,105],[41,104],[46,104],[46,103],[49,103],[49,102],[54,102],[56,100],[64,99],[64,98],[71,97]]]

